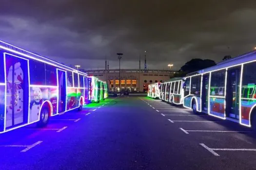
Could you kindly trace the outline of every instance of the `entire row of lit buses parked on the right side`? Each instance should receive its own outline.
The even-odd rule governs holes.
[[[256,51],[149,85],[148,96],[256,128]]]

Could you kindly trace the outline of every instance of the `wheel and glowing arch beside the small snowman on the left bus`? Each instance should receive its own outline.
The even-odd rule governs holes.
[[[41,104],[41,107],[39,109],[39,121],[37,123],[38,127],[44,127],[48,124],[49,118],[52,115],[53,112],[53,106],[50,101],[44,101]]]

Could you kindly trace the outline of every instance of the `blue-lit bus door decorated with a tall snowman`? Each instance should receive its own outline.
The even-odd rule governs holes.
[[[28,123],[28,60],[5,54],[6,128]]]

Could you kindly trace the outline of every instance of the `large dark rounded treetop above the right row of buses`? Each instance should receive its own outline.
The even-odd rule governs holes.
[[[194,58],[189,62],[187,62],[184,66],[182,66],[179,71],[190,73],[190,72],[194,72],[194,71],[208,68],[215,65],[216,63],[213,60],[209,60],[209,59],[203,60],[200,58]]]

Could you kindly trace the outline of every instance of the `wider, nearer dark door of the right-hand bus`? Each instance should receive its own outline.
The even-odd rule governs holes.
[[[239,119],[239,83],[241,66],[230,68],[227,71],[226,85],[226,115]]]

